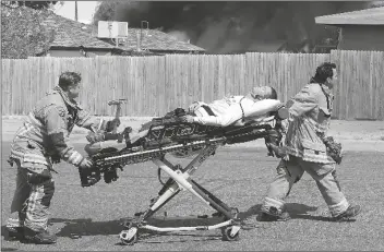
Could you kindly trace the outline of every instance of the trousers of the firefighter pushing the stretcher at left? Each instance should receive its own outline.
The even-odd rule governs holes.
[[[16,190],[7,227],[25,226],[36,231],[47,229],[48,208],[53,196],[55,182],[47,176],[21,168],[19,161],[16,164]]]

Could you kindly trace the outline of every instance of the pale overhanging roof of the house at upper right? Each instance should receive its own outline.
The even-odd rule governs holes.
[[[384,25],[384,7],[344,12],[333,15],[322,15],[316,16],[314,20],[316,24],[328,25]]]

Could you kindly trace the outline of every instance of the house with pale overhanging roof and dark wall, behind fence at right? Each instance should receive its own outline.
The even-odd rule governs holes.
[[[315,17],[316,24],[340,27],[340,50],[384,50],[384,7]]]

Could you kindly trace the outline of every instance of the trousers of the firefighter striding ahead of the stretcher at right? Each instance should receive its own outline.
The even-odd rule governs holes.
[[[271,206],[283,209],[284,200],[288,196],[293,183],[301,179],[304,171],[316,181],[317,188],[333,216],[337,216],[348,208],[349,204],[340,191],[335,176],[335,165],[310,163],[299,157],[289,156],[289,160],[281,160],[278,165],[277,176],[269,185],[262,211],[267,213]]]

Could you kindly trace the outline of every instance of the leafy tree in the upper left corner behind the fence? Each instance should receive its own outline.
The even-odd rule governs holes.
[[[25,59],[49,49],[55,31],[48,31],[43,21],[48,10],[2,4],[1,10],[1,58]]]

